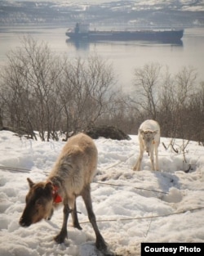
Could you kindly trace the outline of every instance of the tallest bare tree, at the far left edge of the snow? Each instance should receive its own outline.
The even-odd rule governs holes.
[[[2,70],[2,95],[10,115],[10,123],[24,127],[33,137],[40,132],[42,140],[51,138],[59,106],[55,83],[60,78],[60,61],[53,56],[47,43],[24,37],[21,47],[11,51]]]

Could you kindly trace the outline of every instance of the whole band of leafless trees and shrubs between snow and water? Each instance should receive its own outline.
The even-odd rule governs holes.
[[[94,124],[134,133],[144,119],[157,119],[162,136],[204,141],[204,86],[191,67],[175,75],[162,73],[157,63],[135,69],[132,97],[116,89],[112,65],[97,54],[61,59],[28,36],[7,57],[0,73],[0,126],[29,137],[37,130],[45,141],[57,140],[57,131],[69,137]]]

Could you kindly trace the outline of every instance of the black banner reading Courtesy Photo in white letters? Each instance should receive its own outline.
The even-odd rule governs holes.
[[[203,243],[142,243],[141,256],[200,256],[204,255]]]

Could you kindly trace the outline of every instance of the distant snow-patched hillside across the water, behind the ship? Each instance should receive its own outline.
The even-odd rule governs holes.
[[[188,27],[204,25],[200,0],[2,0],[2,25],[94,25]]]

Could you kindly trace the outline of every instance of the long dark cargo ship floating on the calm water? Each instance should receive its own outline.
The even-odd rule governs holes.
[[[77,23],[74,29],[68,29],[66,35],[75,41],[153,41],[179,43],[184,29],[151,29],[151,30],[90,30],[89,25]]]

